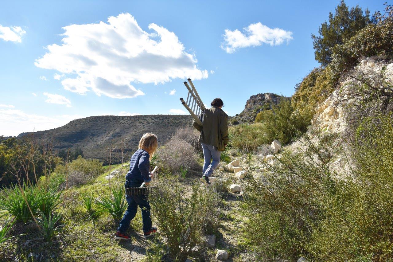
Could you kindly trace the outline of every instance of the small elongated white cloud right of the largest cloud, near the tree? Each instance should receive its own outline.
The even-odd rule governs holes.
[[[248,46],[260,46],[261,44],[270,44],[271,46],[289,42],[292,39],[292,32],[280,28],[269,28],[257,22],[243,28],[244,33],[239,30],[225,30],[224,43],[221,48],[231,54],[239,48]]]

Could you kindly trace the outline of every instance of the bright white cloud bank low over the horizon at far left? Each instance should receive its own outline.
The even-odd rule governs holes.
[[[40,116],[27,114],[21,110],[0,109],[0,135],[17,136],[22,132],[48,130],[82,118],[79,115]]]

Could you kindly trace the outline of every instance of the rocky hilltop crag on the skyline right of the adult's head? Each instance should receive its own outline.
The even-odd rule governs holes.
[[[272,105],[277,105],[282,99],[289,99],[273,93],[256,94],[250,96],[242,113],[231,119],[231,123],[253,122],[257,114],[266,109],[272,109]]]

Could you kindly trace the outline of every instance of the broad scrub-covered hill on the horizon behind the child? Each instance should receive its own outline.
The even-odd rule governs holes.
[[[85,157],[101,161],[108,160],[111,148],[114,149],[112,159],[119,160],[123,146],[124,151],[132,151],[144,133],[155,133],[162,143],[171,137],[176,127],[191,123],[188,115],[90,116],[55,129],[21,133],[18,138],[30,135],[39,143],[53,145],[56,150],[80,148]]]

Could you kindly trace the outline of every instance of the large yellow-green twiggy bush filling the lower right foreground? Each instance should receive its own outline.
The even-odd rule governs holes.
[[[304,137],[301,153],[247,176],[242,212],[246,238],[270,257],[313,261],[393,259],[393,120],[368,118],[345,151],[335,135]],[[347,168],[332,168],[332,157]],[[352,163],[349,168],[349,162]],[[264,230],[255,231],[255,228]]]

